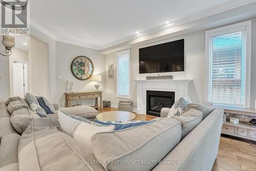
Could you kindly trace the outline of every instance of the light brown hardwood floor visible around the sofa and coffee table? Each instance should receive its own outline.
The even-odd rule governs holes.
[[[117,111],[116,108],[103,108],[99,113]],[[135,112],[133,112],[136,114]],[[152,120],[154,116],[138,115],[136,120]],[[222,136],[213,171],[255,171],[256,144]]]

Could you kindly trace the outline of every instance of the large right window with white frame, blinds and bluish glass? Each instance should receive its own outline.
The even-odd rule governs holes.
[[[206,100],[249,107],[251,22],[206,31]]]

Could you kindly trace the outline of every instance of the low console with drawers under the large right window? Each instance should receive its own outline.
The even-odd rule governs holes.
[[[226,122],[223,122],[222,134],[256,141],[256,128],[249,120],[256,119],[256,110],[225,106]],[[239,124],[229,122],[230,117],[239,118]]]

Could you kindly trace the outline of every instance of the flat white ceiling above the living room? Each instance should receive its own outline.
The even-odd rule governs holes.
[[[236,8],[253,0],[30,1],[31,24],[57,41],[102,49],[162,26]],[[194,17],[194,18],[195,18]]]

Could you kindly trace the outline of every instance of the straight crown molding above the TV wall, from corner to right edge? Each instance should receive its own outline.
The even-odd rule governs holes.
[[[244,5],[248,5],[248,4],[251,4],[251,3],[254,3],[254,2],[256,2],[256,0],[245,0],[245,1],[240,1],[237,4],[227,4],[225,6],[222,6],[222,7],[218,8],[218,9],[211,9],[211,10],[207,10],[207,11],[204,11],[204,12],[200,12],[198,14],[191,15],[189,17],[185,17],[185,18],[176,20],[175,22],[170,22],[169,24],[165,24],[165,25],[162,25],[162,26],[159,26],[159,27],[155,27],[153,29],[143,31],[139,34],[135,34],[135,35],[132,35],[130,37],[125,37],[125,38],[119,39],[117,41],[114,41],[114,42],[111,42],[109,44],[103,45],[103,46],[99,47],[99,49],[103,50],[103,49],[106,49],[106,48],[110,48],[112,46],[122,44],[123,42],[126,42],[126,41],[137,39],[137,38],[140,38],[140,37],[143,37],[143,36],[146,36],[146,35],[150,35],[150,34],[153,34],[153,33],[157,33],[157,32],[160,32],[160,31],[164,31],[164,30],[167,30],[167,29],[172,29],[172,28],[175,28],[177,26],[181,26],[181,25],[184,25],[184,24],[187,24],[187,23],[190,23],[190,22],[194,22],[195,20],[199,20],[199,19],[211,16],[211,15],[215,15],[215,14],[218,14],[218,13],[221,13],[221,12],[225,12],[225,11],[228,11],[228,10],[231,10],[231,9],[234,9],[234,8],[238,8],[238,7],[241,7],[241,6],[244,6]]]

